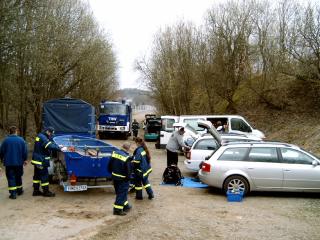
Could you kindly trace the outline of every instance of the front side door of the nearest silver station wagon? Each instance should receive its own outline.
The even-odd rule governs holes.
[[[290,148],[280,148],[283,161],[283,187],[287,189],[320,190],[320,166],[305,152]]]

